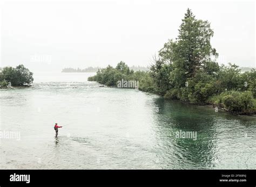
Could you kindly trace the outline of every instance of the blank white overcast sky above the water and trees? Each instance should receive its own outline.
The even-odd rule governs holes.
[[[174,1],[2,1],[1,67],[148,66],[178,35],[187,8],[214,30],[220,62],[255,67],[255,3]]]

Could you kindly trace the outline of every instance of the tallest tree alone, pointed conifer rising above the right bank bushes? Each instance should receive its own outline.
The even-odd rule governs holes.
[[[174,47],[173,66],[185,72],[186,77],[194,77],[202,63],[211,55],[218,55],[211,47],[213,31],[208,21],[197,20],[190,9],[179,29],[177,45]]]

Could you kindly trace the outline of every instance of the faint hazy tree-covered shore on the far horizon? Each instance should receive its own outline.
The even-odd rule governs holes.
[[[62,73],[96,73],[101,67],[87,67],[85,69],[80,68],[64,68],[62,69]],[[149,71],[149,67],[143,66],[131,66],[131,70],[133,71]]]

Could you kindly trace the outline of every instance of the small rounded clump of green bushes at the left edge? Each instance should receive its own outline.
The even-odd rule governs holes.
[[[12,86],[21,86],[33,82],[33,73],[21,64],[16,68],[3,68],[0,79],[0,81],[11,82]]]

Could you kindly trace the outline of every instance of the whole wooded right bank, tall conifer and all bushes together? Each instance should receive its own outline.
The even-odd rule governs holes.
[[[117,81],[138,80],[139,89],[191,104],[213,104],[238,114],[256,113],[256,71],[241,73],[235,64],[217,62],[211,46],[213,30],[187,9],[176,39],[168,40],[153,58],[149,71],[136,71],[123,62],[97,71],[89,81],[116,87]]]

